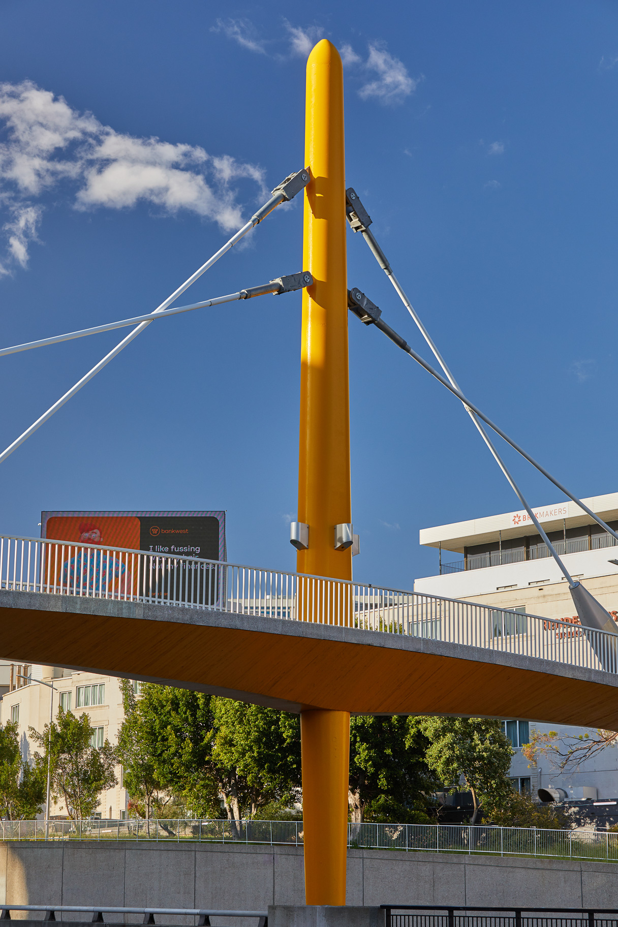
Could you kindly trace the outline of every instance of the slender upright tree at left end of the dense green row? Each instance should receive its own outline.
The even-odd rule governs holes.
[[[135,698],[129,679],[122,679],[120,690],[124,719],[118,732],[116,756],[122,764],[124,787],[131,796],[133,806],[143,805],[144,817],[148,820],[153,804],[161,808],[168,803],[169,795],[163,795],[168,783],[159,778],[161,768],[158,768],[156,762],[157,732],[149,712],[144,710],[142,700]]]

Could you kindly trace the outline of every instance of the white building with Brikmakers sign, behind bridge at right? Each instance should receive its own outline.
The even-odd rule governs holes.
[[[618,493],[585,499],[614,530],[618,527]],[[564,565],[582,579],[595,598],[618,618],[618,551],[616,541],[574,502],[559,502],[535,510]],[[415,592],[462,599],[531,615],[561,619],[574,616],[574,604],[547,545],[525,511],[489,515],[452,525],[423,528],[421,544],[436,548],[435,576],[417,579]],[[455,559],[445,552],[459,554]],[[521,745],[533,730],[584,734],[586,729],[536,723],[534,718],[505,718],[506,733],[517,752],[511,776],[518,788],[530,790],[553,785],[572,798],[618,799],[618,749],[607,748],[569,774],[557,774],[541,757],[528,768]]]

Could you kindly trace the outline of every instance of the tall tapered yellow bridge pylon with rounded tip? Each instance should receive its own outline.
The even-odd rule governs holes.
[[[334,549],[335,525],[352,520],[343,101],[341,58],[322,40],[307,62],[305,163],[312,180],[303,267],[314,283],[303,290],[297,517],[309,525],[309,549],[298,552],[296,569],[351,579],[351,550]],[[315,611],[322,603],[316,596],[307,616],[326,620]],[[347,624],[350,615],[342,614],[336,623]],[[318,692],[319,674],[316,667]],[[306,901],[345,905],[349,714],[301,712],[300,729]]]

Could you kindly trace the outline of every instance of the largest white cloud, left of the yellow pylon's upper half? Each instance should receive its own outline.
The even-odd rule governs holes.
[[[117,133],[63,97],[25,81],[0,84],[0,210],[6,256],[0,275],[25,267],[37,240],[47,191],[80,210],[130,209],[148,203],[175,214],[187,210],[229,231],[242,224],[234,182],[248,180],[266,194],[263,171],[200,146]]]

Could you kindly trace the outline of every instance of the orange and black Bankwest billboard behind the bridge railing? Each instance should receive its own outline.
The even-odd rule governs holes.
[[[61,581],[73,590],[86,583],[102,593],[137,593],[139,584],[145,596],[212,603],[208,565],[192,561],[227,559],[225,512],[42,512],[41,537],[69,543]],[[138,571],[134,557],[102,555],[119,547],[153,557]]]

